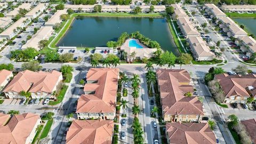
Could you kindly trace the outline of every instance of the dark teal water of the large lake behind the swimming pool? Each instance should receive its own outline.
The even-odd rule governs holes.
[[[163,50],[179,55],[165,18],[76,17],[57,46],[106,46],[122,33],[134,31],[157,41]]]

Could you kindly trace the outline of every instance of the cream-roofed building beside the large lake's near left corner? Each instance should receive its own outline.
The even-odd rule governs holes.
[[[27,49],[28,47],[34,47],[36,50],[40,50],[42,47],[39,46],[39,42],[42,40],[48,40],[53,33],[51,26],[41,27],[31,39],[27,41],[25,45],[22,45],[21,49]]]

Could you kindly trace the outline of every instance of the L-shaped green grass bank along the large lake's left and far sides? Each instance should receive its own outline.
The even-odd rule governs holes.
[[[56,44],[60,41],[63,35],[66,34],[66,31],[70,27],[71,23],[74,21],[75,17],[165,17],[165,13],[150,13],[150,14],[131,14],[131,13],[74,13],[71,14],[70,19],[66,22],[62,22],[61,25],[65,25],[64,28],[60,31],[59,35],[51,43],[50,47],[56,48]],[[58,31],[56,31],[58,33]],[[51,42],[51,41],[49,41]]]

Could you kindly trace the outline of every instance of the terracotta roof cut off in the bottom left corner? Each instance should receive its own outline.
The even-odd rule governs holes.
[[[12,116],[7,125],[0,126],[1,143],[26,143],[38,119],[39,115],[31,113]]]

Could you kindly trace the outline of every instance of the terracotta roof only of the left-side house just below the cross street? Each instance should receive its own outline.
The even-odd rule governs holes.
[[[25,70],[14,76],[4,92],[47,92],[51,93],[58,82],[61,73],[53,70],[51,72]],[[32,84],[32,85],[31,85]]]

